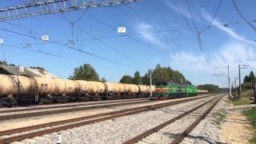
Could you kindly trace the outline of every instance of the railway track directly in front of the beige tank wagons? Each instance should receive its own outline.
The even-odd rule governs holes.
[[[89,105],[98,105],[98,104],[110,104],[115,102],[137,102],[137,101],[143,101],[148,100],[148,98],[135,98],[135,99],[129,99],[129,100],[115,100],[115,101],[109,101],[109,102],[79,102],[79,103],[69,103],[65,105],[49,105],[49,106],[38,106],[38,107],[28,107],[28,108],[11,108],[11,110],[1,110],[0,114],[2,113],[14,113],[14,112],[20,112],[20,111],[33,111],[33,110],[47,110],[47,109],[56,109],[56,108],[66,108],[66,107],[73,107],[73,106],[89,106]]]

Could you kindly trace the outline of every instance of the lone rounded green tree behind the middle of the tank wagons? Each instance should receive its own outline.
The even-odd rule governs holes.
[[[74,68],[74,74],[70,78],[86,80],[86,81],[99,81],[98,74],[90,64],[83,64]]]

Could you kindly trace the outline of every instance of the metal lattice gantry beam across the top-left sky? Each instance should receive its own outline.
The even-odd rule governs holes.
[[[0,22],[100,6],[122,6],[137,1],[142,0],[37,0],[24,5],[0,8]]]

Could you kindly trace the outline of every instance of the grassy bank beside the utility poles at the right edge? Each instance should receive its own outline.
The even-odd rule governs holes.
[[[251,90],[245,90],[242,92],[242,97],[236,98],[232,101],[234,106],[240,106],[240,105],[249,105],[251,100],[250,97],[252,96]]]

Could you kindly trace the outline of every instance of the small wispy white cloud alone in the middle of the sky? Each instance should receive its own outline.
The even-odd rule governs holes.
[[[156,34],[152,34],[150,32],[155,31],[153,26],[150,26],[146,23],[140,23],[136,26],[136,30],[138,33],[142,34],[142,38],[146,41],[149,41],[155,45],[165,47],[165,44],[160,41]]]

